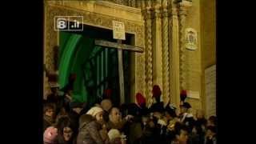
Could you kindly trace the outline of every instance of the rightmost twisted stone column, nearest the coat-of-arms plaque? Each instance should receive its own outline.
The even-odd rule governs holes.
[[[180,46],[180,89],[186,90],[186,54],[185,54],[185,26],[188,7],[192,6],[189,1],[182,0],[178,3],[179,18],[179,46]]]

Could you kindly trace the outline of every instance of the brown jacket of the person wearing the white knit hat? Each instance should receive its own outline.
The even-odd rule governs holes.
[[[99,130],[101,126],[89,114],[82,115],[82,120],[79,122],[79,133],[77,144],[104,144]]]

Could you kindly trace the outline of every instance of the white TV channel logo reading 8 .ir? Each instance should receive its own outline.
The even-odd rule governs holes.
[[[55,16],[54,30],[56,31],[82,31],[82,16]]]

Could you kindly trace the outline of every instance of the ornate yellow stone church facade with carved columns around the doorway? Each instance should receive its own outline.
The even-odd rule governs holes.
[[[132,35],[128,43],[143,50],[130,53],[130,102],[140,92],[150,106],[158,85],[165,103],[178,107],[180,91],[186,90],[193,110],[207,109],[205,70],[216,63],[214,0],[47,0],[44,5],[44,64],[50,71],[60,73],[54,49],[62,48],[54,17],[82,16],[83,25],[106,30],[112,30],[112,21],[124,22]],[[44,95],[48,83],[45,74]]]

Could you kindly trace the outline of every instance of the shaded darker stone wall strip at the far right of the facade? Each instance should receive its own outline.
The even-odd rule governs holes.
[[[206,110],[204,70],[216,64],[216,4],[215,0],[201,0],[202,46],[202,108]]]

